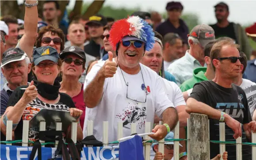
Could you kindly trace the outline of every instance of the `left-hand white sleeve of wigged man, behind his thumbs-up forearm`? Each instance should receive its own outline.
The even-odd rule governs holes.
[[[90,84],[91,81],[94,79],[94,77],[97,75],[97,73],[99,72],[99,69],[101,69],[104,63],[105,61],[100,61],[92,66],[91,71],[85,77],[84,91],[85,91],[85,88],[88,86],[88,84]],[[106,85],[107,85],[107,78],[105,79],[105,82],[104,82],[103,92],[105,91]]]

